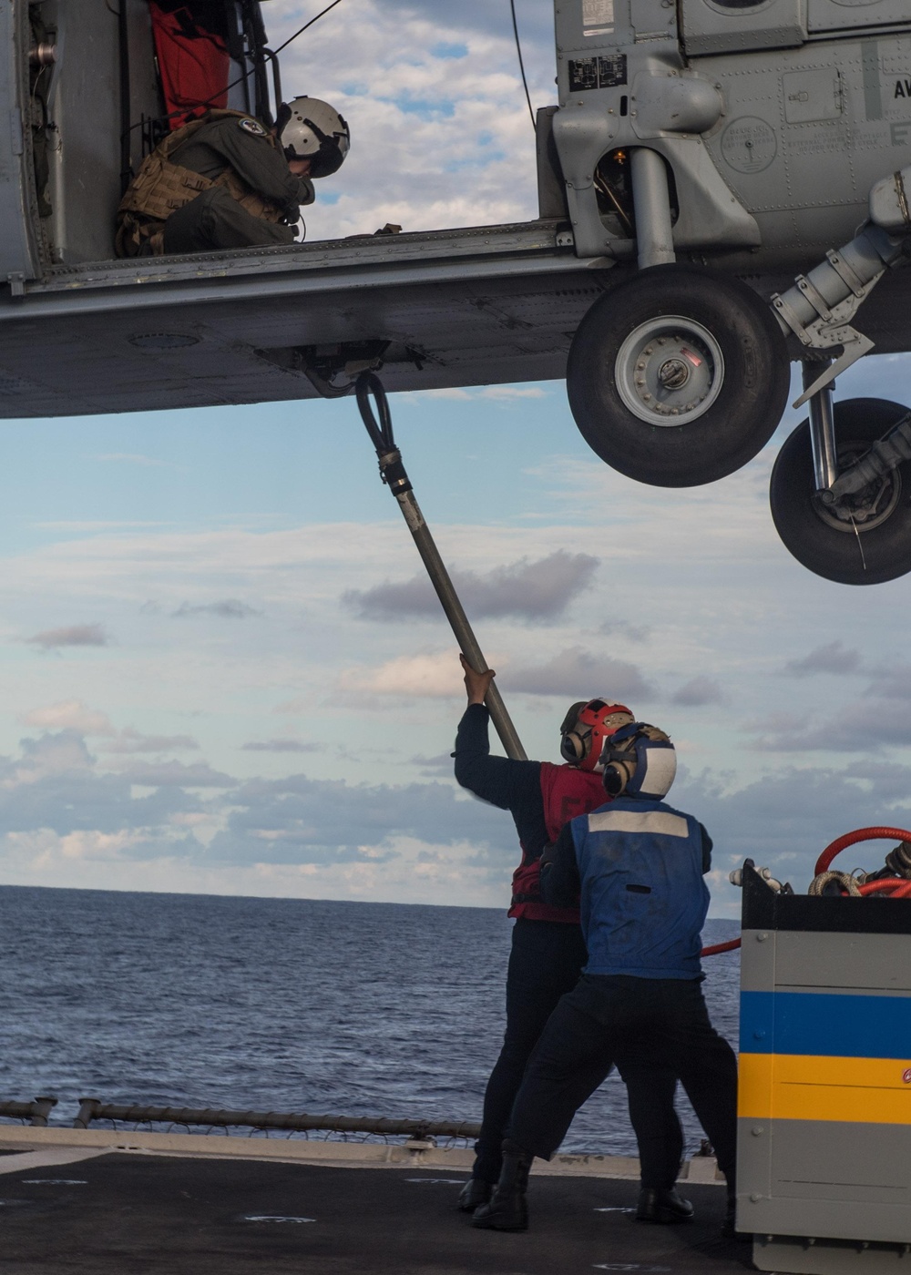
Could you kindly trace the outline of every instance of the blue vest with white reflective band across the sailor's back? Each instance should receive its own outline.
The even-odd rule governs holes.
[[[586,974],[699,978],[708,912],[702,830],[660,801],[618,797],[574,819]]]

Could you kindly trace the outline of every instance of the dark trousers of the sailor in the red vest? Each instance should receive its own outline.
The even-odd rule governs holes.
[[[523,921],[513,927],[513,946],[507,973],[507,1030],[500,1057],[494,1066],[484,1098],[481,1136],[475,1145],[473,1176],[496,1182],[503,1164],[503,1139],[522,1086],[526,1066],[547,1021],[579,980],[588,960],[582,931],[559,921]],[[639,1142],[642,1182],[670,1187],[683,1156],[683,1131],[674,1111],[676,1076],[669,1067],[643,1058],[620,1068],[629,1094],[629,1116]],[[610,1071],[601,1058],[574,1075],[568,1100],[573,1114],[591,1096]],[[559,1141],[556,1145],[559,1145]],[[523,1144],[524,1145],[524,1144]]]

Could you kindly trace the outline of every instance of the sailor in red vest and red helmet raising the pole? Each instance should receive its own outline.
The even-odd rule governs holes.
[[[515,926],[507,973],[507,1030],[487,1081],[472,1177],[459,1195],[459,1209],[473,1213],[487,1202],[499,1178],[503,1135],[528,1057],[558,1001],[575,987],[588,959],[578,910],[551,907],[541,898],[541,854],[570,819],[604,805],[597,770],[604,741],[634,718],[623,704],[583,700],[572,705],[560,727],[564,765],[491,757],[484,696],[494,673],[476,673],[464,657],[462,668],[468,708],[455,737],[455,779],[475,796],[510,812],[522,847],[509,909]],[[662,1186],[669,1164],[679,1164],[683,1155],[683,1133],[674,1111],[676,1077],[663,1068],[625,1068],[623,1079],[639,1141],[642,1184]],[[639,1220],[684,1221],[689,1214],[692,1209],[680,1218],[646,1213]]]

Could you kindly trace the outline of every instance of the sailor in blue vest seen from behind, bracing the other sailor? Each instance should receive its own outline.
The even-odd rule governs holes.
[[[528,1062],[503,1144],[500,1181],[472,1224],[524,1230],[528,1169],[549,1160],[584,1098],[614,1065],[671,1067],[712,1141],[727,1179],[726,1233],[734,1229],[736,1082],[734,1051],[712,1026],[702,997],[700,931],[708,910],[703,873],[712,841],[692,815],[661,798],[676,757],[667,736],[644,723],[621,727],[602,754],[614,799],[573,819],[545,852],[541,891],[554,905],[581,896],[588,964],[551,1014]],[[643,1188],[641,1214],[686,1205],[666,1164]],[[692,1209],[689,1209],[692,1213]]]

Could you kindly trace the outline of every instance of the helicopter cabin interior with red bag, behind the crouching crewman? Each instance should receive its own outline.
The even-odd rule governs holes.
[[[272,120],[278,75],[256,0],[13,0],[0,22],[5,105],[26,121],[18,162],[0,167],[5,226],[19,232],[0,250],[4,278],[112,259],[130,178],[207,105]]]

